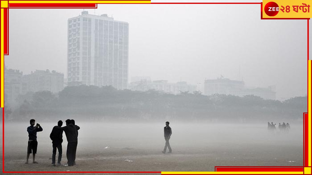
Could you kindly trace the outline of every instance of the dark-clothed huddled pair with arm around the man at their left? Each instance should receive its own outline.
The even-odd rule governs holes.
[[[65,132],[66,139],[67,139],[67,151],[66,151],[66,157],[67,157],[67,164],[68,166],[74,165],[74,152],[77,148],[77,142],[78,142],[78,136],[77,136],[77,130],[80,128],[76,127],[72,124],[70,119],[67,119],[66,126],[61,127],[61,129]]]

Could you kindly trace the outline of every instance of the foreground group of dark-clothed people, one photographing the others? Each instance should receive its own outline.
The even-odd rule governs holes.
[[[78,144],[78,130],[80,129],[79,126],[75,125],[75,120],[67,119],[66,126],[63,126],[63,121],[58,121],[57,125],[53,127],[50,139],[52,140],[52,165],[55,165],[55,157],[56,157],[56,149],[58,149],[58,160],[57,165],[61,165],[62,159],[62,142],[63,142],[63,131],[65,132],[66,139],[67,139],[67,151],[66,151],[66,158],[67,164],[64,166],[74,166],[76,164],[76,150]],[[36,121],[34,119],[30,120],[30,126],[27,127],[28,132],[28,146],[27,146],[27,158],[26,164],[28,163],[28,159],[30,154],[32,154],[32,163],[38,163],[35,161],[35,157],[37,154],[37,132],[42,131],[42,127],[40,124],[37,123],[35,126]]]

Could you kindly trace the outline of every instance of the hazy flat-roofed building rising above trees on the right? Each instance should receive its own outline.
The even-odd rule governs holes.
[[[275,100],[275,86],[267,88],[246,88],[243,81],[230,80],[228,78],[217,78],[205,80],[205,95],[226,94],[243,97],[245,95],[255,95],[264,99]]]

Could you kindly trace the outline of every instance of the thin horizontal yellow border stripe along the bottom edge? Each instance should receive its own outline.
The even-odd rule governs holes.
[[[253,171],[246,171],[246,172],[161,172],[161,174],[303,174],[302,171],[296,172],[253,172]]]

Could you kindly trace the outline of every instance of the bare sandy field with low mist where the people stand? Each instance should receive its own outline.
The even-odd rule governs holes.
[[[103,127],[100,124],[80,124],[76,166],[73,167],[51,166],[52,144],[48,135],[53,124],[41,124],[45,132],[37,134],[36,161],[39,163],[25,164],[25,130],[28,125],[21,125],[25,127],[18,125],[18,129],[14,129],[16,125],[5,125],[6,172],[214,171],[215,166],[303,165],[303,136],[300,125],[292,127],[288,134],[277,132],[274,135],[267,132],[265,125],[264,129],[258,125],[244,128],[236,125],[193,126],[196,130],[190,125],[172,126],[170,143],[173,153],[163,154],[162,124]],[[160,134],[154,137],[154,133],[158,131]],[[64,137],[62,163],[67,161],[65,134]],[[30,160],[31,158],[32,155]]]

